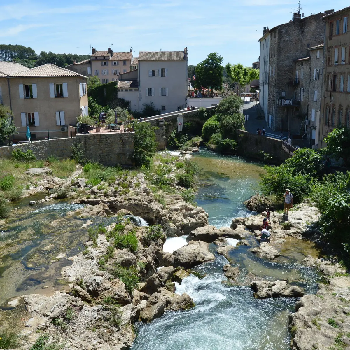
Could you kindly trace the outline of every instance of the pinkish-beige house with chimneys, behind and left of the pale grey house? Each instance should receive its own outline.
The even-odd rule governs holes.
[[[92,48],[91,73],[93,76],[97,76],[102,84],[108,84],[117,81],[120,73],[133,70],[131,69],[132,62],[132,51],[113,52],[111,48],[108,51],[96,51]]]

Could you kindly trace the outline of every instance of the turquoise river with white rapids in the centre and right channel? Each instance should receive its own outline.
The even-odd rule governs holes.
[[[254,214],[242,202],[258,191],[259,174],[264,171],[260,164],[207,150],[201,150],[194,159],[201,169],[196,200],[208,212],[210,224],[229,226],[233,217]],[[186,244],[184,238],[169,238],[167,250]],[[248,241],[251,246],[257,245],[253,236]],[[288,278],[306,293],[315,293],[320,275],[300,265],[300,261],[307,254],[316,257],[318,251],[306,241],[287,243],[293,249],[285,248],[274,262],[256,257],[248,251],[251,247],[243,245],[232,250],[229,259],[243,275],[252,273],[267,280]],[[216,260],[196,268],[206,274],[203,279],[190,275],[181,285],[176,283],[176,293],[188,293],[196,306],[188,311],[167,312],[151,324],[139,324],[132,350],[290,349],[288,315],[294,311],[296,299],[258,300],[248,286],[223,283],[226,278],[222,268],[228,260],[217,255],[214,245],[211,252]]]

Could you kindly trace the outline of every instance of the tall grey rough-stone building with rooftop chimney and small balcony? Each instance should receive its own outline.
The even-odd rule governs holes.
[[[308,48],[323,42],[324,15],[318,13],[301,18],[296,12],[293,21],[265,31],[260,39],[261,47],[266,42],[266,33],[269,33],[269,58],[265,58],[268,65],[267,113],[274,131],[303,132],[300,126],[301,103],[295,98],[295,91],[300,86],[300,72],[297,76],[294,72],[295,60],[306,57]]]

